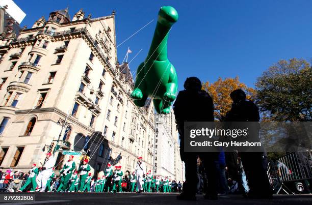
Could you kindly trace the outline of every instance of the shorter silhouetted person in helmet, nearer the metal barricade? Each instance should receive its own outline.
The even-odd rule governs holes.
[[[246,100],[246,94],[241,89],[230,94],[233,100],[230,111],[226,113],[227,122],[259,122],[260,116],[257,106]],[[256,137],[256,136],[253,136]],[[258,137],[258,136],[257,136]],[[243,167],[250,188],[248,197],[269,198],[272,197],[272,188],[269,183],[264,156],[261,152],[241,152]]]

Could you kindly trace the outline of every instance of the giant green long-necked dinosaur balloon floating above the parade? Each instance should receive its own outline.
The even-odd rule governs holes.
[[[156,111],[162,114],[170,113],[177,92],[176,72],[167,57],[169,31],[177,20],[178,13],[173,7],[160,9],[152,43],[145,61],[138,67],[131,94],[139,107],[144,106],[148,97],[152,98]]]

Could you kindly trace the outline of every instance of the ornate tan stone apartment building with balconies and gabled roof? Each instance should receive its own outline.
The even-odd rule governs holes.
[[[59,169],[67,150],[87,154],[95,174],[108,162],[132,172],[138,156],[153,170],[154,110],[129,98],[134,82],[117,62],[115,12],[51,12],[0,41],[0,56],[0,166],[28,170],[55,151]]]

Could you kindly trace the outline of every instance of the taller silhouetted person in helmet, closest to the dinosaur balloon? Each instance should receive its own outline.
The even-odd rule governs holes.
[[[184,83],[184,91],[180,91],[173,105],[175,120],[180,135],[180,156],[185,162],[186,182],[178,199],[196,200],[197,184],[197,153],[184,152],[184,122],[213,122],[214,105],[208,93],[201,90],[201,82],[197,77],[189,77]],[[206,153],[199,155],[207,173],[208,188],[205,198],[217,199],[217,177],[214,161],[218,154]]]

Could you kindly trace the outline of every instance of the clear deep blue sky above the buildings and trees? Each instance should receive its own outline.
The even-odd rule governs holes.
[[[137,35],[118,47],[122,62],[129,46],[141,53],[130,64],[132,71],[144,60],[161,6],[173,6],[179,20],[168,41],[169,60],[175,66],[179,90],[188,76],[202,81],[218,77],[236,77],[248,86],[269,66],[281,59],[303,57],[310,61],[312,46],[312,1],[83,1],[15,0],[27,14],[21,25],[31,27],[34,21],[51,11],[69,6],[73,14],[83,8],[92,18],[116,11],[117,45],[138,31]]]

